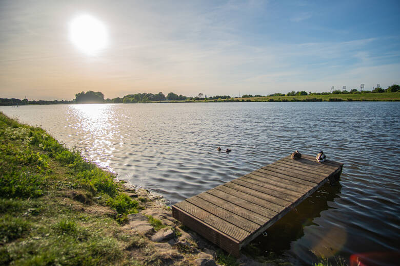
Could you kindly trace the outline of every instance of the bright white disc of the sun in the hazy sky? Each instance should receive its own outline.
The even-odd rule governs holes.
[[[88,55],[95,55],[107,46],[106,27],[91,15],[75,17],[69,25],[69,34],[72,43]]]

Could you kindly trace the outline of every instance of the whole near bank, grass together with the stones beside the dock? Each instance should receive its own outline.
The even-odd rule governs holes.
[[[0,112],[0,265],[291,265],[252,245],[243,253],[230,256],[172,218],[163,197]]]

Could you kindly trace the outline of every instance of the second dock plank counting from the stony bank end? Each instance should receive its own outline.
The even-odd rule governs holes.
[[[259,227],[259,225],[253,223],[253,221],[243,218],[242,216],[239,216],[233,212],[227,211],[226,209],[218,207],[215,204],[207,202],[201,197],[198,196],[190,197],[186,201],[190,202],[191,204],[199,208],[202,208],[208,213],[214,214],[215,216],[227,221],[227,223],[235,225],[238,228],[242,228],[243,230],[249,233],[253,232],[254,230],[257,230],[257,228]]]

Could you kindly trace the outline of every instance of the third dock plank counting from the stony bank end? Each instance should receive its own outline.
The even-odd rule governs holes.
[[[264,225],[268,220],[270,220],[269,218],[267,218],[263,215],[259,215],[252,211],[249,211],[246,208],[232,204],[226,200],[223,200],[222,198],[216,197],[207,192],[203,192],[201,194],[198,194],[197,196],[201,197],[203,200],[210,202],[216,206],[221,206],[221,208],[224,208],[225,210],[227,210],[229,212],[232,212],[232,213],[239,215],[247,220],[250,220],[250,221],[254,222],[255,224],[257,224],[258,226]]]

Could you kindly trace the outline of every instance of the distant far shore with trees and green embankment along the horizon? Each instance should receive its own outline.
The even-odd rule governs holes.
[[[231,97],[229,95],[208,96],[199,93],[196,97],[177,95],[173,92],[165,96],[162,92],[158,94],[137,93],[128,94],[124,97],[113,99],[104,98],[102,92],[81,92],[75,95],[75,99],[69,100],[38,100],[0,98],[0,105],[38,105],[38,104],[73,104],[73,103],[161,103],[161,102],[318,102],[318,101],[400,101],[400,85],[393,84],[386,89],[376,87],[372,91],[358,91],[353,88],[349,92],[335,90],[332,92],[312,93],[305,91],[291,91],[287,94],[275,93],[268,96],[243,95],[242,97]]]

